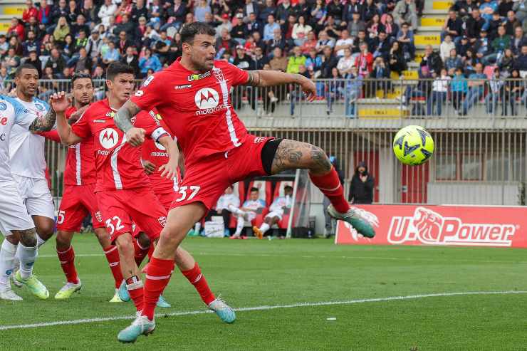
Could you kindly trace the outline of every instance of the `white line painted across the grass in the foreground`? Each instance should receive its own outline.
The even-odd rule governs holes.
[[[511,295],[511,294],[524,294],[527,291],[523,290],[507,290],[507,291],[466,291],[461,293],[433,293],[433,294],[421,294],[421,295],[407,295],[407,296],[391,296],[388,298],[361,298],[358,300],[347,300],[347,301],[327,301],[318,303],[292,303],[291,305],[262,305],[254,307],[235,308],[237,312],[244,311],[259,311],[259,310],[276,310],[279,308],[299,308],[299,307],[318,307],[318,306],[330,306],[330,305],[353,305],[355,303],[377,303],[395,300],[414,300],[418,298],[441,298],[447,296],[464,296],[464,295]],[[174,317],[179,315],[200,315],[202,313],[212,313],[211,310],[193,310],[193,311],[182,311],[172,313],[158,313],[156,317]],[[115,317],[104,317],[104,318],[86,318],[78,320],[57,320],[54,322],[44,323],[32,323],[32,324],[19,324],[19,325],[0,325],[0,330],[10,329],[26,329],[26,328],[43,328],[51,327],[53,325],[76,325],[84,323],[100,323],[108,322],[111,320],[132,320],[135,315],[122,315]]]

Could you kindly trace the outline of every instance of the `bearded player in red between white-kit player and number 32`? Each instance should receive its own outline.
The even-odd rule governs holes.
[[[73,106],[66,110],[68,122],[78,120],[93,100],[93,82],[90,75],[75,73],[71,78]],[[44,137],[61,142],[57,130],[41,133]],[[80,290],[81,283],[75,269],[75,251],[71,240],[86,214],[90,213],[93,221],[93,231],[103,248],[106,259],[115,280],[115,295],[110,302],[121,302],[118,288],[122,283],[122,273],[119,265],[117,247],[110,243],[105,224],[100,216],[97,199],[95,198],[95,157],[93,155],[93,139],[68,147],[66,166],[64,168],[64,192],[61,206],[58,209],[56,248],[58,260],[66,275],[67,283],[56,293],[55,298],[63,300],[70,298],[75,291]]]

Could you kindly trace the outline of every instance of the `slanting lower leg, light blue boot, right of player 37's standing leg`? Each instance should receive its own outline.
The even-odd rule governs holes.
[[[213,310],[225,323],[233,323],[236,320],[234,310],[224,300],[214,296],[194,257],[187,250],[178,246],[175,261],[179,271],[194,285],[194,288],[196,288],[205,305]]]

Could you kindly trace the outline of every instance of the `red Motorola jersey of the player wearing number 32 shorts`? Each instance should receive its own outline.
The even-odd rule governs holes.
[[[141,165],[141,149],[126,142],[125,134],[113,122],[114,115],[115,110],[108,105],[108,99],[100,100],[90,105],[71,126],[75,135],[93,139],[97,169],[95,192],[134,189],[150,184]],[[145,129],[147,137],[154,140],[168,135],[154,112],[139,112],[132,124]]]

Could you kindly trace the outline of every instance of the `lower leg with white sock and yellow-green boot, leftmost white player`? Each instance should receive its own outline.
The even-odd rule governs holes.
[[[48,298],[48,289],[33,274],[33,266],[38,251],[35,229],[11,231],[11,233],[15,236],[15,240],[18,243],[16,255],[20,262],[20,268],[16,271],[14,279],[22,285],[26,285],[36,297],[41,299]],[[11,243],[14,242],[11,241]]]

